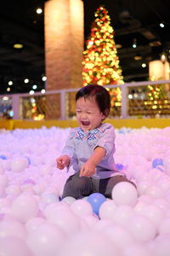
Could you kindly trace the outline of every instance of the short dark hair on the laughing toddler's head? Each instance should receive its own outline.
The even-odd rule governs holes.
[[[88,84],[82,87],[81,90],[77,91],[76,102],[79,98],[84,97],[84,99],[95,97],[95,101],[98,104],[101,113],[107,117],[110,113],[111,108],[111,96],[108,90],[104,86],[98,84]]]

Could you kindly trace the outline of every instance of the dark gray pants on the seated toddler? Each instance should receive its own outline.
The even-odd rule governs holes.
[[[105,197],[111,198],[111,192],[116,183],[130,182],[127,177],[116,175],[104,179],[94,179],[92,177],[79,177],[79,172],[71,175],[65,183],[62,198],[72,196],[81,199],[92,193],[101,193]],[[133,184],[134,185],[134,184]],[[135,186],[135,185],[134,185]]]

